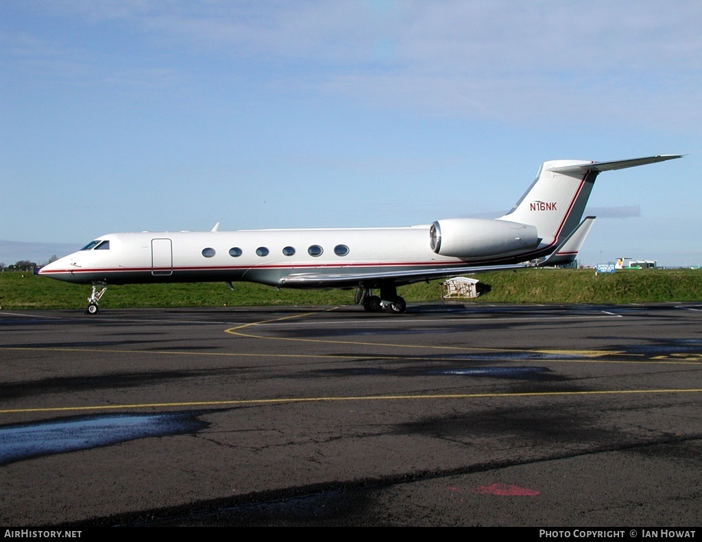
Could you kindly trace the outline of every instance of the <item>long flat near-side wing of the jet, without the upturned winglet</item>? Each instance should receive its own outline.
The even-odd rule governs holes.
[[[461,266],[431,269],[412,269],[409,271],[383,271],[378,273],[292,273],[280,280],[282,286],[318,286],[329,288],[352,287],[359,284],[380,283],[383,280],[394,279],[397,285],[417,283],[433,278],[448,278],[452,276],[480,273],[484,271],[504,271],[505,269],[522,269],[529,264],[493,265],[493,266]]]

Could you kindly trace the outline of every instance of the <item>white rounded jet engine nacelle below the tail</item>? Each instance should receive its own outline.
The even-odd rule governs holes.
[[[536,247],[536,227],[492,219],[437,220],[429,228],[432,250],[442,256],[472,258]]]

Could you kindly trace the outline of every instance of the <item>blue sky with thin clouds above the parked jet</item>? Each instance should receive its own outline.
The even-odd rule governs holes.
[[[496,217],[544,160],[680,153],[598,178],[580,260],[699,265],[701,21],[698,0],[4,1],[0,239]]]

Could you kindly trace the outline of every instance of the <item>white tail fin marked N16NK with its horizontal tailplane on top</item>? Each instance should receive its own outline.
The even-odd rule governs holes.
[[[536,226],[541,247],[555,249],[577,227],[600,172],[654,164],[682,155],[656,155],[614,162],[551,160],[543,162],[536,180],[515,207],[499,220]]]

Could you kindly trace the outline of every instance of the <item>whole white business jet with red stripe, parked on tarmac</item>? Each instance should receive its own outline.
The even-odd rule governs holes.
[[[230,287],[246,280],[277,288],[355,288],[366,311],[402,313],[399,285],[525,267],[538,259],[572,260],[592,226],[592,217],[581,218],[600,172],[680,157],[543,162],[515,207],[497,219],[402,228],[218,231],[217,224],[211,231],[110,233],[39,274],[91,284],[86,314],[98,313],[110,284],[219,280]]]

